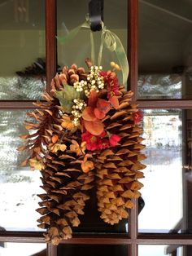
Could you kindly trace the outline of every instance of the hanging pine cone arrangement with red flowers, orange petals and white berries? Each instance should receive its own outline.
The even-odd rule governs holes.
[[[23,165],[41,171],[42,216],[46,242],[58,245],[72,237],[80,224],[89,190],[96,186],[98,211],[111,225],[129,217],[133,199],[141,193],[142,114],[131,103],[133,93],[118,82],[120,66],[111,62],[103,71],[89,59],[85,68],[63,67],[50,84],[37,109],[25,121],[28,135],[19,150],[28,150]]]

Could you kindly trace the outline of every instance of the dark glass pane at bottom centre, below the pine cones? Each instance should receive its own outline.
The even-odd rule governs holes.
[[[58,256],[128,256],[127,245],[59,245]]]

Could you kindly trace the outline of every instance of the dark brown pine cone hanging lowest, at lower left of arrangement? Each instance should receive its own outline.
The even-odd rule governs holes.
[[[65,142],[67,147],[68,143]],[[41,188],[46,194],[39,195],[42,202],[39,203],[41,208],[37,209],[43,216],[37,221],[41,223],[38,227],[48,229],[45,240],[53,245],[71,238],[71,226],[78,227],[78,215],[84,214],[85,201],[89,199],[86,191],[93,187],[94,173],[82,174],[82,158],[70,150],[46,156],[46,167],[41,171]]]

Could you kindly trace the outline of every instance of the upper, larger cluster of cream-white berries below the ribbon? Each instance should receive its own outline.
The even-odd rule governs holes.
[[[92,90],[99,91],[104,88],[104,78],[100,76],[100,72],[103,69],[102,66],[91,66],[90,73],[87,75],[87,81],[81,80],[80,82],[75,82],[73,86],[76,91],[85,92],[85,96],[89,97]]]

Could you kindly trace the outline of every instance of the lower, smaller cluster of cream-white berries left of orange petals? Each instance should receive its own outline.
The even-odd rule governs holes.
[[[79,125],[79,119],[82,116],[82,112],[87,104],[85,104],[85,101],[83,99],[73,99],[73,105],[72,105],[72,115],[74,117],[73,124],[75,126]]]

